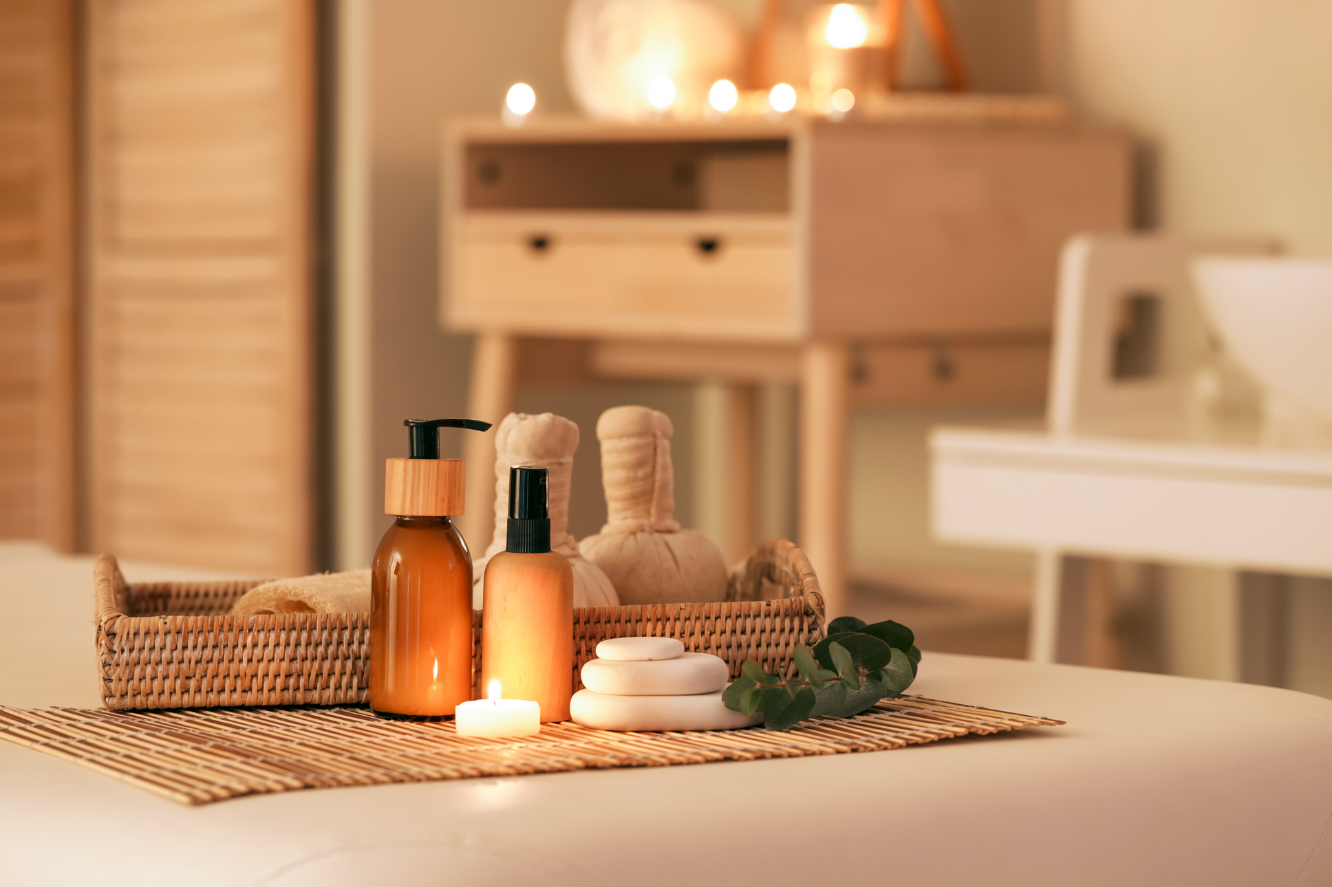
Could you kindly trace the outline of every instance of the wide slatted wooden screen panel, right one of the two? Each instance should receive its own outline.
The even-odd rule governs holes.
[[[88,21],[93,545],[305,573],[310,4]]]

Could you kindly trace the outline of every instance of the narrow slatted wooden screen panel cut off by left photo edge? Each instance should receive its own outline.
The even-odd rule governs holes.
[[[0,538],[72,523],[68,0],[0,1]]]

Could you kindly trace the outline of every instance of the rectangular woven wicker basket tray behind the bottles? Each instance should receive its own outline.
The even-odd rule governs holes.
[[[366,701],[369,614],[230,615],[249,582],[128,585],[116,558],[93,571],[97,667],[108,709],[353,705]],[[739,674],[745,659],[790,673],[797,643],[823,637],[823,595],[809,558],[767,542],[731,575],[726,603],[574,610],[574,686],[597,642],[669,635],[713,653]],[[481,613],[473,614],[473,674]]]

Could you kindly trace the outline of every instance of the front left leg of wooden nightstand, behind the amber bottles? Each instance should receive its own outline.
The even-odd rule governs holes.
[[[509,414],[513,404],[514,340],[507,333],[477,336],[472,352],[472,385],[466,418],[494,422]],[[486,550],[494,535],[496,429],[485,434],[462,433],[462,457],[468,461],[468,513],[458,521],[473,557]]]

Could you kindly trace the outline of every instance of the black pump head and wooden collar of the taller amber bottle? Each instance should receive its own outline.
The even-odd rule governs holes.
[[[440,458],[440,429],[485,432],[474,420],[406,420],[409,458],[384,466],[384,513],[400,517],[457,517],[464,513],[466,469],[462,459]]]

